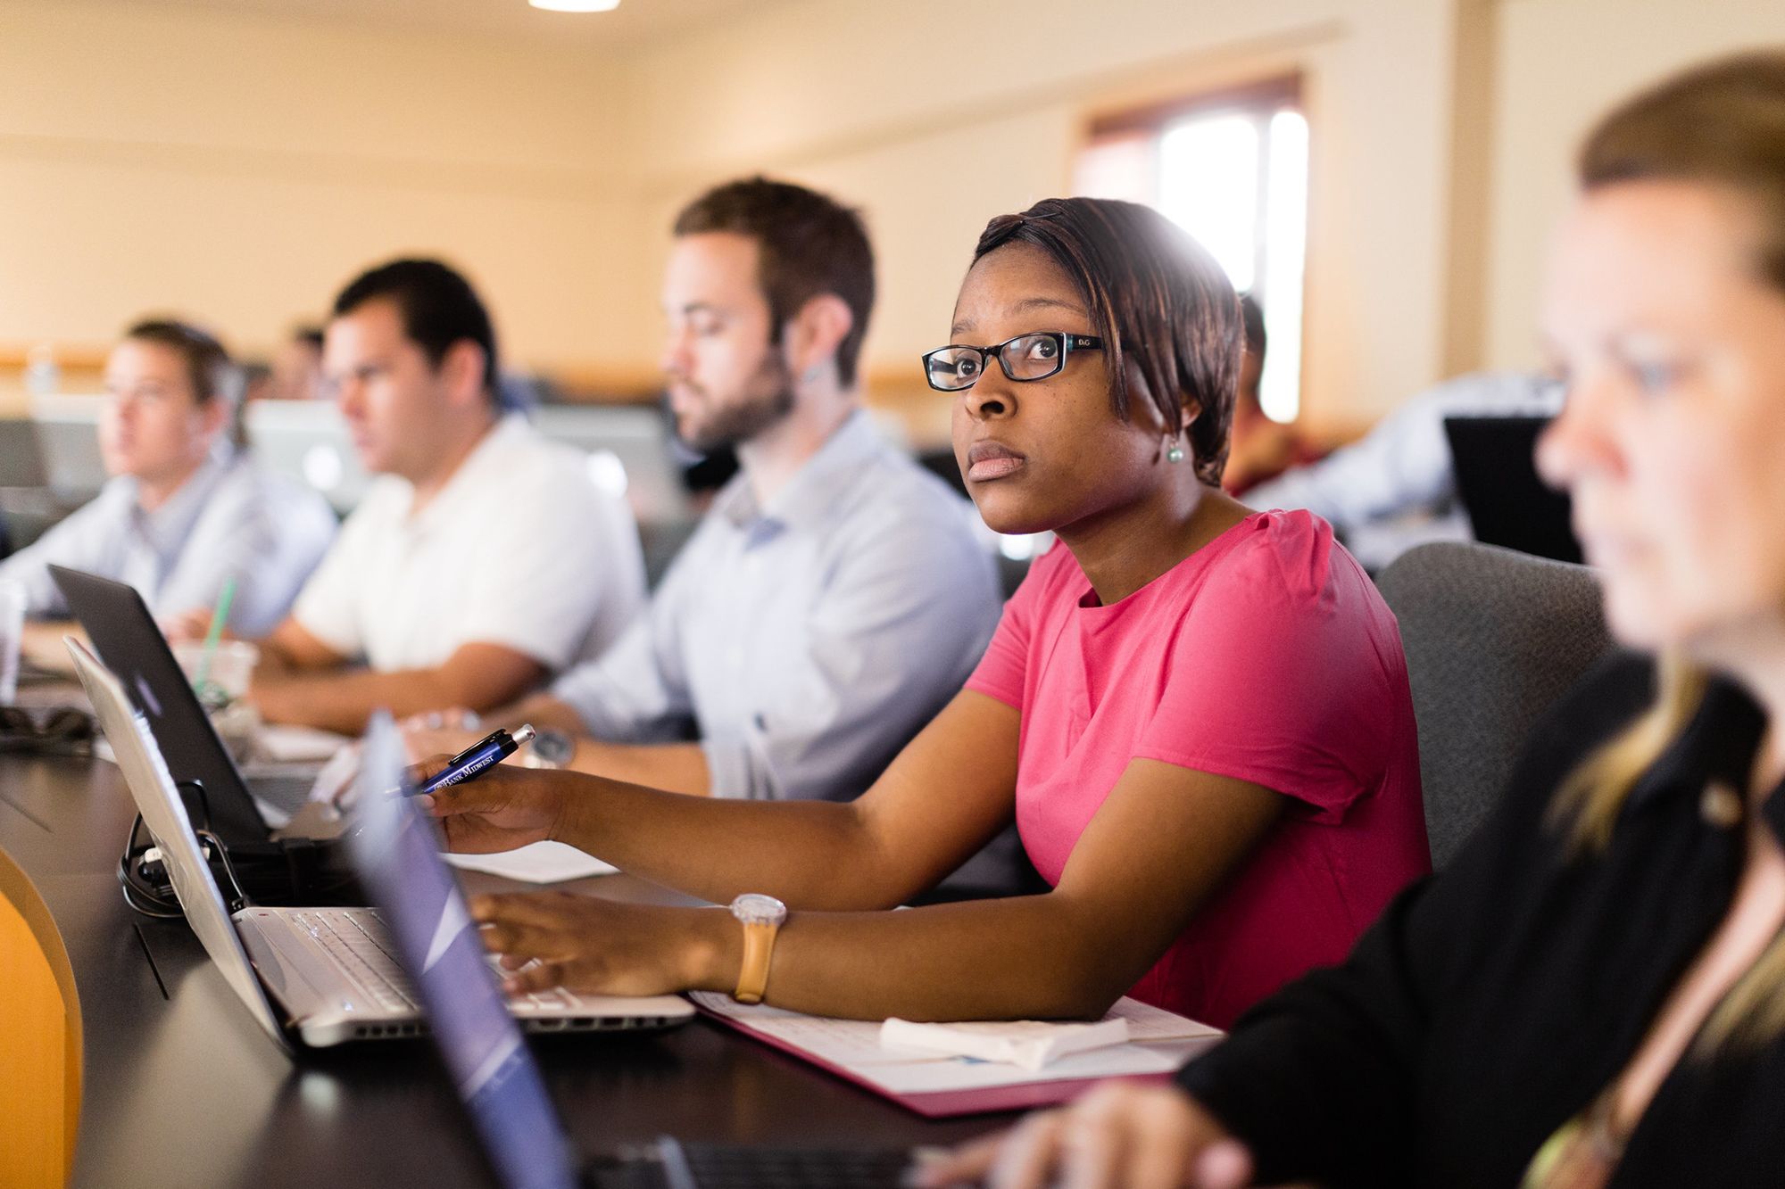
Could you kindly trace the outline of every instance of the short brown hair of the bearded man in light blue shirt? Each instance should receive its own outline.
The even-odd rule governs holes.
[[[812,298],[830,293],[850,307],[850,334],[837,345],[837,378],[855,384],[868,316],[875,309],[875,252],[862,216],[805,186],[750,177],[716,186],[675,216],[677,236],[732,232],[757,241],[757,287],[782,327]]]

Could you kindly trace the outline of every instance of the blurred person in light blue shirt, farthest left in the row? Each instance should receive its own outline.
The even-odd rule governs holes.
[[[112,478],[0,562],[0,580],[25,587],[27,614],[55,621],[32,632],[32,659],[66,666],[68,607],[50,564],[129,582],[162,619],[209,627],[230,582],[230,630],[259,636],[286,616],[336,518],[320,495],[234,445],[237,400],[234,364],[205,330],[171,320],[125,330],[105,362],[98,425]]]

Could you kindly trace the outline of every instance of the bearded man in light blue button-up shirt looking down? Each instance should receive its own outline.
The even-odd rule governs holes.
[[[536,762],[703,796],[846,800],[960,689],[998,584],[966,502],[860,409],[873,296],[868,232],[825,195],[746,179],[677,216],[669,407],[684,443],[735,452],[741,473],[605,657],[494,716],[548,732]],[[414,732],[412,746],[475,736]],[[1005,886],[1014,859],[1010,839],[964,878]]]

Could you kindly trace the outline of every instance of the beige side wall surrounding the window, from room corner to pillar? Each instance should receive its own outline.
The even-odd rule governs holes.
[[[677,198],[746,168],[864,205],[869,370],[916,386],[978,229],[1067,186],[1089,112],[1299,70],[1305,405],[1353,421],[1439,370],[1453,32],[1440,0],[810,0],[634,62],[639,168],[659,236]]]

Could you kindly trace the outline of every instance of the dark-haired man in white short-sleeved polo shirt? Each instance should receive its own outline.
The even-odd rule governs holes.
[[[261,641],[266,719],[357,734],[377,707],[503,705],[643,607],[632,512],[582,453],[503,416],[496,336],[464,277],[437,261],[359,277],[323,371],[380,478]]]

